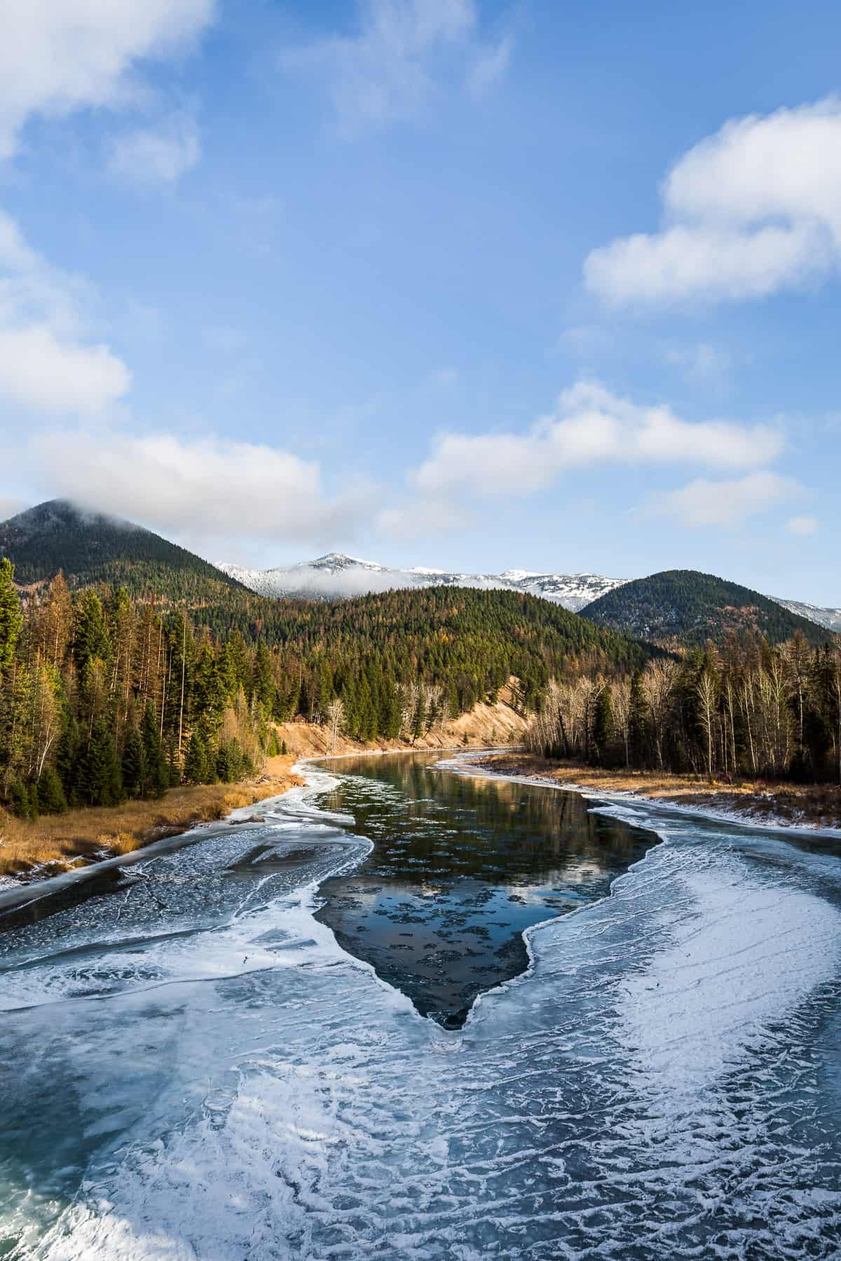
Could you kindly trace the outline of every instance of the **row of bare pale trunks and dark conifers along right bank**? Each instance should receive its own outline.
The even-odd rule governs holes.
[[[528,744],[593,765],[841,783],[841,637],[731,636],[630,673],[554,680]]]

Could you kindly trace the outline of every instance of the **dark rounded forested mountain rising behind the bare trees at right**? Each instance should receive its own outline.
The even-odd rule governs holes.
[[[691,569],[666,570],[625,583],[580,614],[613,630],[657,643],[722,643],[728,634],[759,632],[782,643],[801,630],[812,644],[828,632],[738,583]]]

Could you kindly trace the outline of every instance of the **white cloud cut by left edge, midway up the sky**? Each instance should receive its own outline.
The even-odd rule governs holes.
[[[0,395],[45,412],[97,412],[131,375],[87,335],[84,286],[50,267],[0,212]]]

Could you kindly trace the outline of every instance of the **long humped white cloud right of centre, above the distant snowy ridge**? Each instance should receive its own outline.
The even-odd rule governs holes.
[[[445,434],[416,470],[417,489],[431,498],[530,494],[564,469],[598,463],[702,464],[751,469],[783,449],[778,430],[724,420],[691,422],[666,406],[646,406],[579,382],[555,412],[523,434]]]

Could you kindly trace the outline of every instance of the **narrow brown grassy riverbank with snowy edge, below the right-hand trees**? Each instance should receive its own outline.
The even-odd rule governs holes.
[[[603,770],[575,762],[548,762],[531,753],[490,753],[472,759],[482,770],[588,792],[628,793],[662,806],[765,827],[841,830],[841,788],[773,781],[728,783],[648,770]]]

